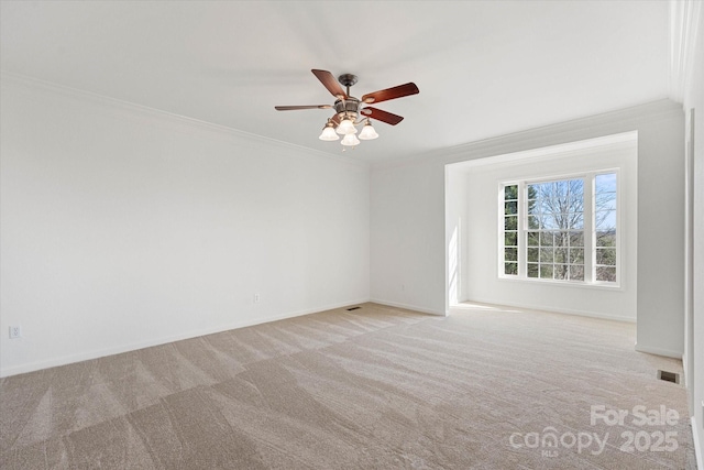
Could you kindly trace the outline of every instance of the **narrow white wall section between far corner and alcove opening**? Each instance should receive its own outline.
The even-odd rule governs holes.
[[[372,299],[444,315],[443,167],[374,170],[371,194]]]

